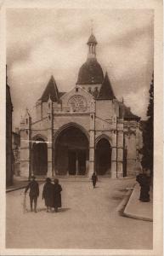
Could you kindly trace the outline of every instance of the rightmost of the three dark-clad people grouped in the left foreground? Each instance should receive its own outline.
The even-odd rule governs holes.
[[[61,207],[61,185],[59,184],[59,179],[54,179],[54,211],[58,212],[58,208]]]

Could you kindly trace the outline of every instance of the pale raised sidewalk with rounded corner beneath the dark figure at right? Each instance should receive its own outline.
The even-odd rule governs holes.
[[[134,186],[132,195],[127,202],[123,215],[129,218],[138,218],[147,221],[153,221],[153,191],[150,188],[150,202],[139,201],[140,186],[138,183]]]

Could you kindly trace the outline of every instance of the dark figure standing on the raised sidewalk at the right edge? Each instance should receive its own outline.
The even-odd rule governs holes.
[[[150,177],[147,176],[147,170],[144,169],[142,173],[139,173],[136,180],[140,185],[139,201],[150,201]]]

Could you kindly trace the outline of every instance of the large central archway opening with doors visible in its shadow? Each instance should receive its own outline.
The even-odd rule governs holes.
[[[88,137],[74,126],[65,128],[54,145],[54,170],[59,175],[85,175],[88,168]]]

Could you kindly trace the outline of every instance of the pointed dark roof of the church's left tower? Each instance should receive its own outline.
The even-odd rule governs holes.
[[[48,85],[42,93],[42,97],[40,98],[40,100],[42,102],[48,102],[49,96],[52,102],[59,102],[59,90],[54,80],[54,76],[51,76],[51,78],[49,79]]]

